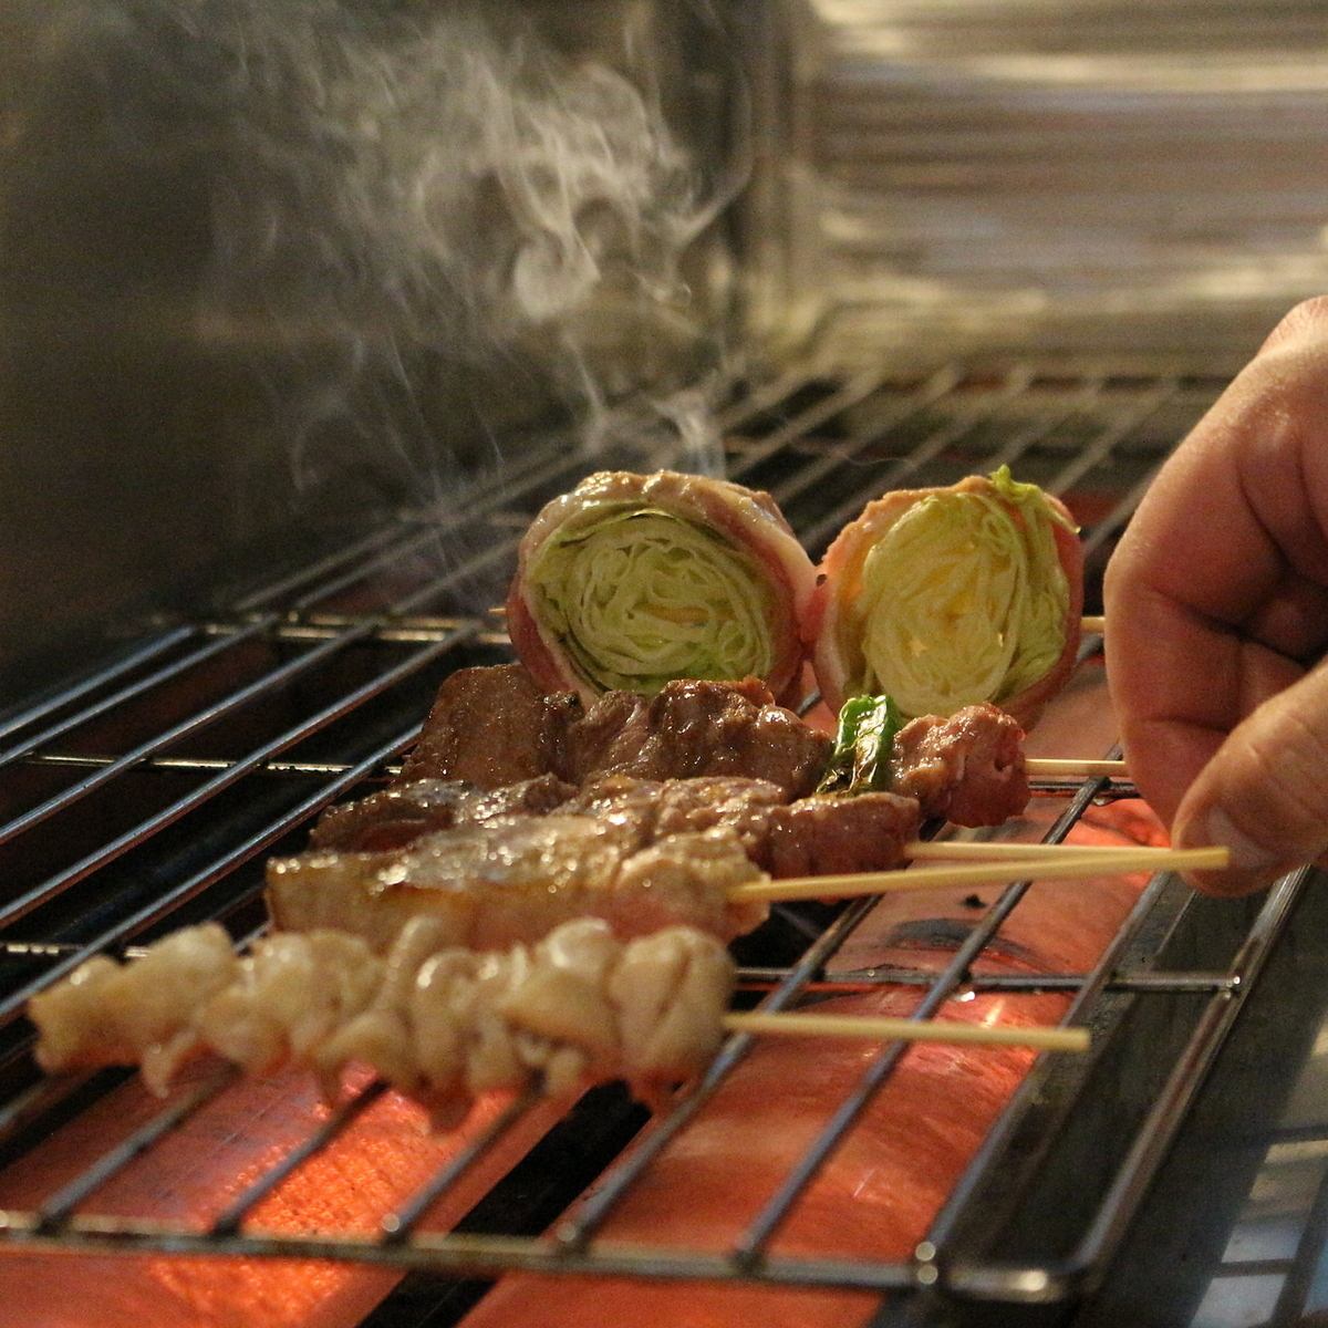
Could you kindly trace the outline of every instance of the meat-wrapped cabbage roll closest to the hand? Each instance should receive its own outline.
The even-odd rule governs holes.
[[[906,716],[991,701],[1031,726],[1078,648],[1084,554],[1069,511],[1001,466],[886,494],[845,526],[807,618],[829,705],[888,692]]]

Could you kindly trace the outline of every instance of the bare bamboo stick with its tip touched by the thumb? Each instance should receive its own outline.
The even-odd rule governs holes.
[[[1038,859],[1029,853],[1023,859],[977,862],[957,867],[915,867],[911,871],[858,871],[846,875],[790,876],[786,880],[762,880],[733,886],[729,899],[850,899],[857,895],[878,895],[887,891],[943,888],[946,886],[995,886],[1011,880],[1082,880],[1090,876],[1126,871],[1214,870],[1227,866],[1230,854],[1224,847],[1212,849],[1102,849],[1073,859],[1058,857]]]

